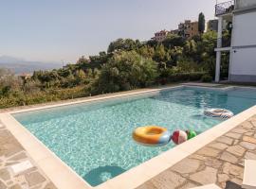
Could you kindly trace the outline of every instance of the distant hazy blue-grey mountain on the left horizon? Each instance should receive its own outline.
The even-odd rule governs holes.
[[[61,68],[60,62],[28,61],[9,56],[0,56],[0,68],[8,68],[15,74],[33,73],[38,70],[52,70]]]

